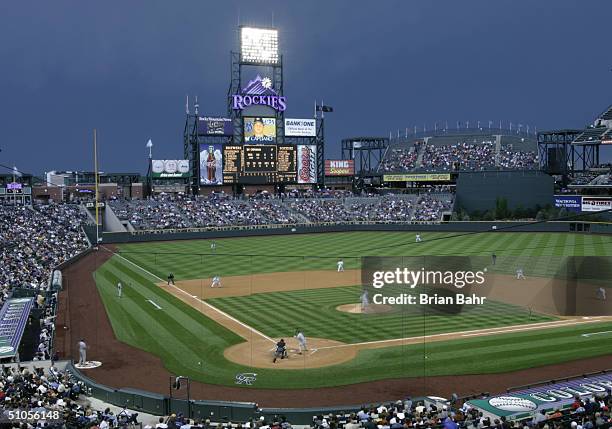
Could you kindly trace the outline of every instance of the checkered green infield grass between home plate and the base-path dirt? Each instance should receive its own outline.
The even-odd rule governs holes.
[[[426,306],[396,306],[392,313],[349,314],[336,310],[359,302],[357,286],[259,293],[207,300],[220,310],[273,337],[287,337],[299,327],[306,336],[360,343],[410,338],[497,326],[556,320],[500,302],[466,306],[458,314],[434,312]]]

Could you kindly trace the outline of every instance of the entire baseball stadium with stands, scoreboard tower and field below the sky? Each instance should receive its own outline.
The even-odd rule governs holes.
[[[97,130],[91,171],[0,174],[0,425],[609,427],[612,105],[326,142],[281,36],[238,27],[145,174]]]

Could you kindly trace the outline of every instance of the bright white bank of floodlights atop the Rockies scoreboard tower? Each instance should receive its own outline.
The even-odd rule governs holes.
[[[241,27],[240,60],[252,64],[278,64],[278,30]]]

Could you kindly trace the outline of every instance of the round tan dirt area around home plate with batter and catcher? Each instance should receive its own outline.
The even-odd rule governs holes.
[[[308,350],[299,354],[295,338],[285,338],[287,342],[286,359],[274,359],[274,343],[263,338],[228,347],[223,352],[227,360],[252,368],[305,369],[320,368],[347,362],[357,356],[356,347],[325,338],[306,338]]]

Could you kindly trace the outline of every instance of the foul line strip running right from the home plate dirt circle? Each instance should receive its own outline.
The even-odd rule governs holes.
[[[583,323],[593,323],[593,322],[603,322],[604,319],[589,319],[589,320],[553,320],[551,322],[538,322],[531,323],[529,325],[512,325],[507,326],[505,328],[485,328],[485,329],[474,329],[469,331],[458,331],[458,332],[444,332],[441,334],[431,334],[424,335],[419,337],[407,337],[407,338],[393,338],[389,340],[378,340],[378,341],[365,341],[362,343],[353,343],[353,344],[337,344],[333,346],[324,346],[319,347],[318,350],[326,350],[326,349],[337,349],[343,347],[359,347],[366,346],[371,344],[386,344],[386,343],[398,343],[401,341],[413,341],[413,340],[427,340],[430,338],[437,337],[448,337],[448,336],[456,336],[461,335],[462,337],[476,336],[476,335],[491,335],[495,333],[508,333],[516,330],[532,330],[532,329],[550,329],[564,326],[572,326]]]

